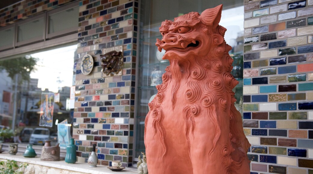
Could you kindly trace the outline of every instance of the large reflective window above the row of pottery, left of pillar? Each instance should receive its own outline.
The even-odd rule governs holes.
[[[0,60],[0,124],[14,126],[22,142],[57,142],[57,124],[73,122],[69,98],[76,50],[77,45],[65,46]]]

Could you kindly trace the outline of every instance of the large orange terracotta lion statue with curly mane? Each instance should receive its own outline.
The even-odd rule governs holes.
[[[170,65],[145,120],[149,174],[250,173],[221,11],[190,12],[159,28],[156,46]]]

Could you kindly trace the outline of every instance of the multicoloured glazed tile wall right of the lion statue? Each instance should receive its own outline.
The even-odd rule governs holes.
[[[313,0],[245,0],[251,173],[313,173]]]

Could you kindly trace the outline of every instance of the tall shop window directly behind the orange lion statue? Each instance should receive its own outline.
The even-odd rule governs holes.
[[[138,157],[145,151],[144,121],[149,111],[148,103],[157,93],[156,85],[162,83],[159,77],[169,65],[167,60],[162,60],[162,53],[155,46],[156,38],[162,39],[159,32],[161,22],[165,19],[173,20],[174,17],[189,12],[203,12],[223,4],[220,25],[227,28],[225,41],[233,49],[229,52],[234,59],[232,74],[239,80],[236,92],[236,107],[242,112],[242,79],[243,79],[243,36],[244,36],[244,6],[241,0],[202,1],[202,0],[145,0],[141,1],[140,13],[140,40],[139,40],[139,71],[137,81],[136,103],[136,140],[134,156]]]

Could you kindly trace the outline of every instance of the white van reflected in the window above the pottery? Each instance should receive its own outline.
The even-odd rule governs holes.
[[[29,144],[44,145],[44,141],[48,141],[50,137],[50,131],[48,128],[35,128],[30,135]]]

